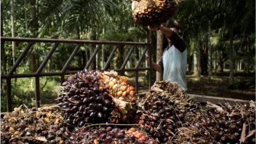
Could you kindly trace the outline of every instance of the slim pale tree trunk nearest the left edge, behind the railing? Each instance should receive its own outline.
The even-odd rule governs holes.
[[[15,7],[14,7],[14,0],[11,0],[11,21],[12,21],[12,37],[15,37]],[[16,49],[16,43],[12,42],[12,61],[13,64],[15,63],[15,49]]]

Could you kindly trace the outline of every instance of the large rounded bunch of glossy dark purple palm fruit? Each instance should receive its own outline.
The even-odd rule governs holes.
[[[99,89],[103,74],[81,71],[64,82],[59,94],[58,108],[69,125],[106,122],[115,107],[108,90]]]

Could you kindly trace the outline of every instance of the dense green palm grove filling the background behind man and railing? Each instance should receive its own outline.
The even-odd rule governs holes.
[[[255,1],[182,0],[175,17],[163,25],[173,25],[174,20],[181,26],[181,35],[187,43],[188,73],[193,72],[199,81],[204,75],[211,79],[213,75],[228,70],[229,87],[238,89],[234,77],[236,72],[255,76]],[[134,23],[131,1],[128,0],[3,0],[1,36],[150,41],[154,60],[157,38],[164,38],[157,37],[156,32],[149,38],[148,28]],[[5,42],[1,46],[1,74],[8,73],[25,46],[26,43],[14,42]],[[52,46],[36,43],[15,73],[34,73]],[[90,69],[101,69],[113,47],[103,46]],[[60,44],[42,72],[60,71],[74,48],[75,45]],[[136,65],[141,48],[136,47],[127,68]],[[94,49],[95,45],[83,45],[68,70],[83,69]],[[110,69],[120,68],[129,50],[127,46],[119,47]],[[146,61],[143,61],[141,67],[146,66]],[[143,77],[147,77],[147,73]],[[247,87],[254,85],[255,90],[255,78],[252,81]],[[58,93],[60,77],[42,77],[40,82],[41,103],[52,103]],[[142,85],[148,83],[142,82]],[[21,103],[35,106],[34,78],[12,79],[12,84],[13,107]],[[1,79],[1,111],[6,111],[4,79]]]

